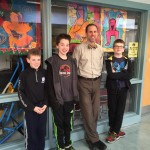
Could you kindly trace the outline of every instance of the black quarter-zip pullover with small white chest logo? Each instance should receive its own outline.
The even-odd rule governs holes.
[[[27,68],[19,76],[18,97],[24,110],[33,111],[39,103],[47,105],[45,70]]]

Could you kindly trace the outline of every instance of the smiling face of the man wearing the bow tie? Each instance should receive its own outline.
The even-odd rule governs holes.
[[[95,26],[89,26],[88,30],[87,30],[87,33],[86,33],[86,36],[87,36],[87,40],[89,42],[95,43],[96,39],[98,37],[97,28]]]

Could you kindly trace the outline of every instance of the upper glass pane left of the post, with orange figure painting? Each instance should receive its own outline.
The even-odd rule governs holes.
[[[0,93],[17,91],[26,54],[41,48],[40,0],[0,1]],[[12,85],[12,90],[9,84]]]

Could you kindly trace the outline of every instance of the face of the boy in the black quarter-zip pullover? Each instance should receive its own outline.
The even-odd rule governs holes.
[[[38,69],[41,65],[41,56],[30,55],[30,58],[27,58],[27,62],[30,64],[31,68]]]

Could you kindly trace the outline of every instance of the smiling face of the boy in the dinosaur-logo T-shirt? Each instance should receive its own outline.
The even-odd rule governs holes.
[[[61,39],[60,43],[56,45],[59,50],[59,55],[66,55],[69,51],[69,41],[67,39]]]

